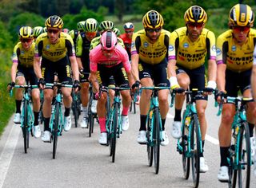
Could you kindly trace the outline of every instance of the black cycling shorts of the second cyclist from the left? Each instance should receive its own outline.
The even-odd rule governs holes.
[[[57,73],[58,81],[62,84],[72,84],[72,72],[69,58],[66,56],[59,61],[53,62],[42,57],[42,76],[46,83],[54,83],[54,74]]]

